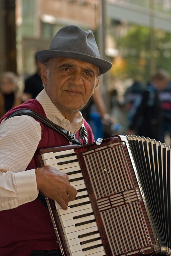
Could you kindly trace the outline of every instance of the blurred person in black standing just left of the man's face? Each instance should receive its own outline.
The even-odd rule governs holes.
[[[24,93],[22,95],[23,102],[29,99],[35,99],[36,96],[43,90],[43,83],[41,80],[41,63],[37,60],[35,55],[35,64],[37,71],[34,75],[25,80]]]

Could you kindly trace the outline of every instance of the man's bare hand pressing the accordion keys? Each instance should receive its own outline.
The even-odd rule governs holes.
[[[63,210],[68,201],[75,199],[77,191],[69,184],[68,176],[51,166],[35,169],[37,188],[47,197],[56,200]]]

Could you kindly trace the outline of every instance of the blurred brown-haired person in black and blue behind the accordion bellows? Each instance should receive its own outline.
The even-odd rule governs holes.
[[[164,143],[163,109],[161,94],[168,86],[169,75],[159,70],[148,83],[127,134],[149,137]]]

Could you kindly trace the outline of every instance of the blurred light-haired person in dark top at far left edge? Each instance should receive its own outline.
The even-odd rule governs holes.
[[[11,108],[21,104],[17,82],[18,77],[13,72],[4,72],[0,76],[0,118]]]

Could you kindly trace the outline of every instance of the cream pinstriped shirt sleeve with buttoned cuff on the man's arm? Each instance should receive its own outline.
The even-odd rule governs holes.
[[[0,125],[0,210],[37,198],[35,169],[26,170],[41,139],[33,117],[11,117]]]

